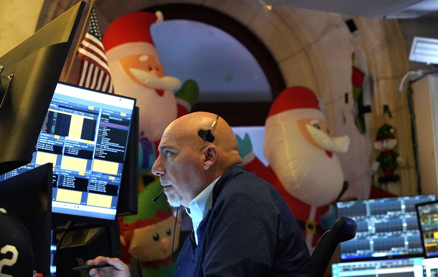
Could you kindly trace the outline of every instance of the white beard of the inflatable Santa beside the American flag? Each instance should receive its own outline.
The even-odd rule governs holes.
[[[136,98],[140,109],[139,131],[148,140],[160,140],[166,127],[177,118],[177,101],[171,90],[159,96],[155,89],[146,88],[128,77],[119,61],[109,63],[111,79],[116,94]]]

